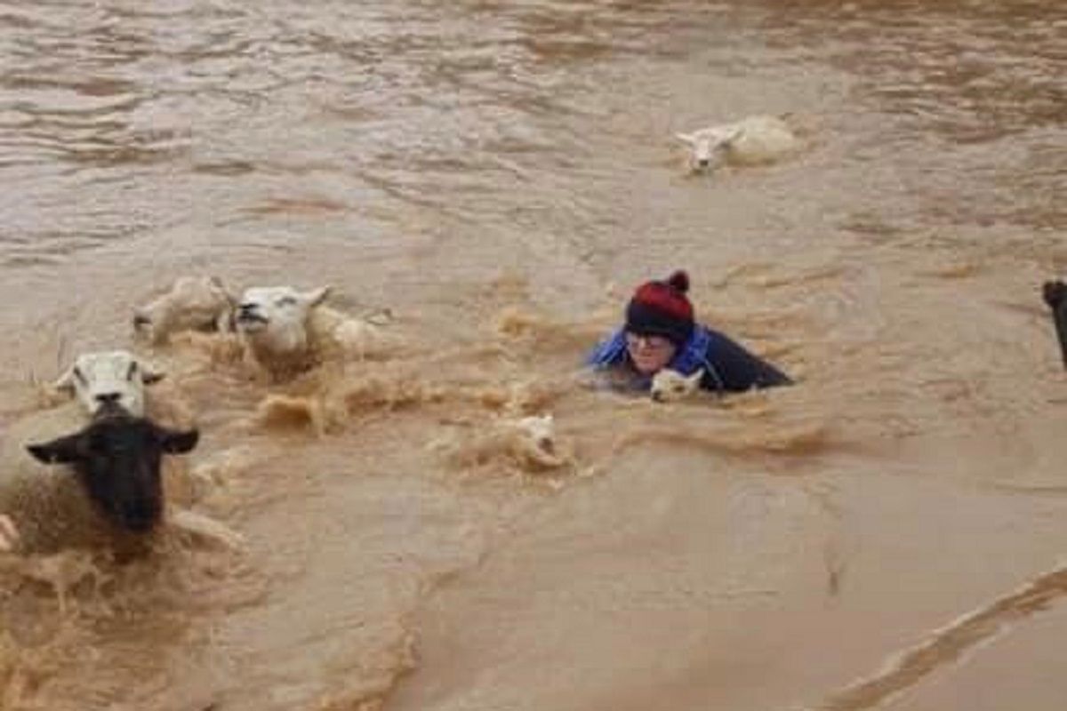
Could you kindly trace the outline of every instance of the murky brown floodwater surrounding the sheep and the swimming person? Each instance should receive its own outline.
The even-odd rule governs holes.
[[[245,547],[5,559],[4,708],[1061,708],[1065,61],[1021,0],[0,0],[0,425],[178,274],[407,343],[322,434],[150,353]],[[800,155],[684,174],[783,112]],[[800,385],[569,387],[679,265]],[[443,454],[508,405],[566,467]]]

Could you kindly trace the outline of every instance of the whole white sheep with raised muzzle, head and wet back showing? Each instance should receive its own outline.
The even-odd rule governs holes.
[[[381,355],[388,342],[373,323],[323,304],[330,287],[246,289],[235,325],[252,359],[275,381],[328,361]]]

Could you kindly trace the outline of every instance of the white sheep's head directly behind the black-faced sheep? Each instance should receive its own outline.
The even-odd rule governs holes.
[[[73,392],[90,415],[101,407],[121,407],[133,417],[144,417],[144,386],[158,383],[163,375],[128,351],[102,351],[78,356],[54,387]]]

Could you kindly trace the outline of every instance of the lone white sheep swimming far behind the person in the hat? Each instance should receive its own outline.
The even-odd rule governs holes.
[[[711,173],[723,164],[770,163],[801,147],[796,132],[778,116],[749,116],[674,135],[689,146],[688,166],[692,173]]]

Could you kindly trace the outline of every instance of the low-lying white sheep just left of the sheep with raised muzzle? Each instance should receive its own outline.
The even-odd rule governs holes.
[[[237,300],[216,276],[181,276],[171,290],[134,309],[133,328],[153,342],[179,330],[232,330]]]

